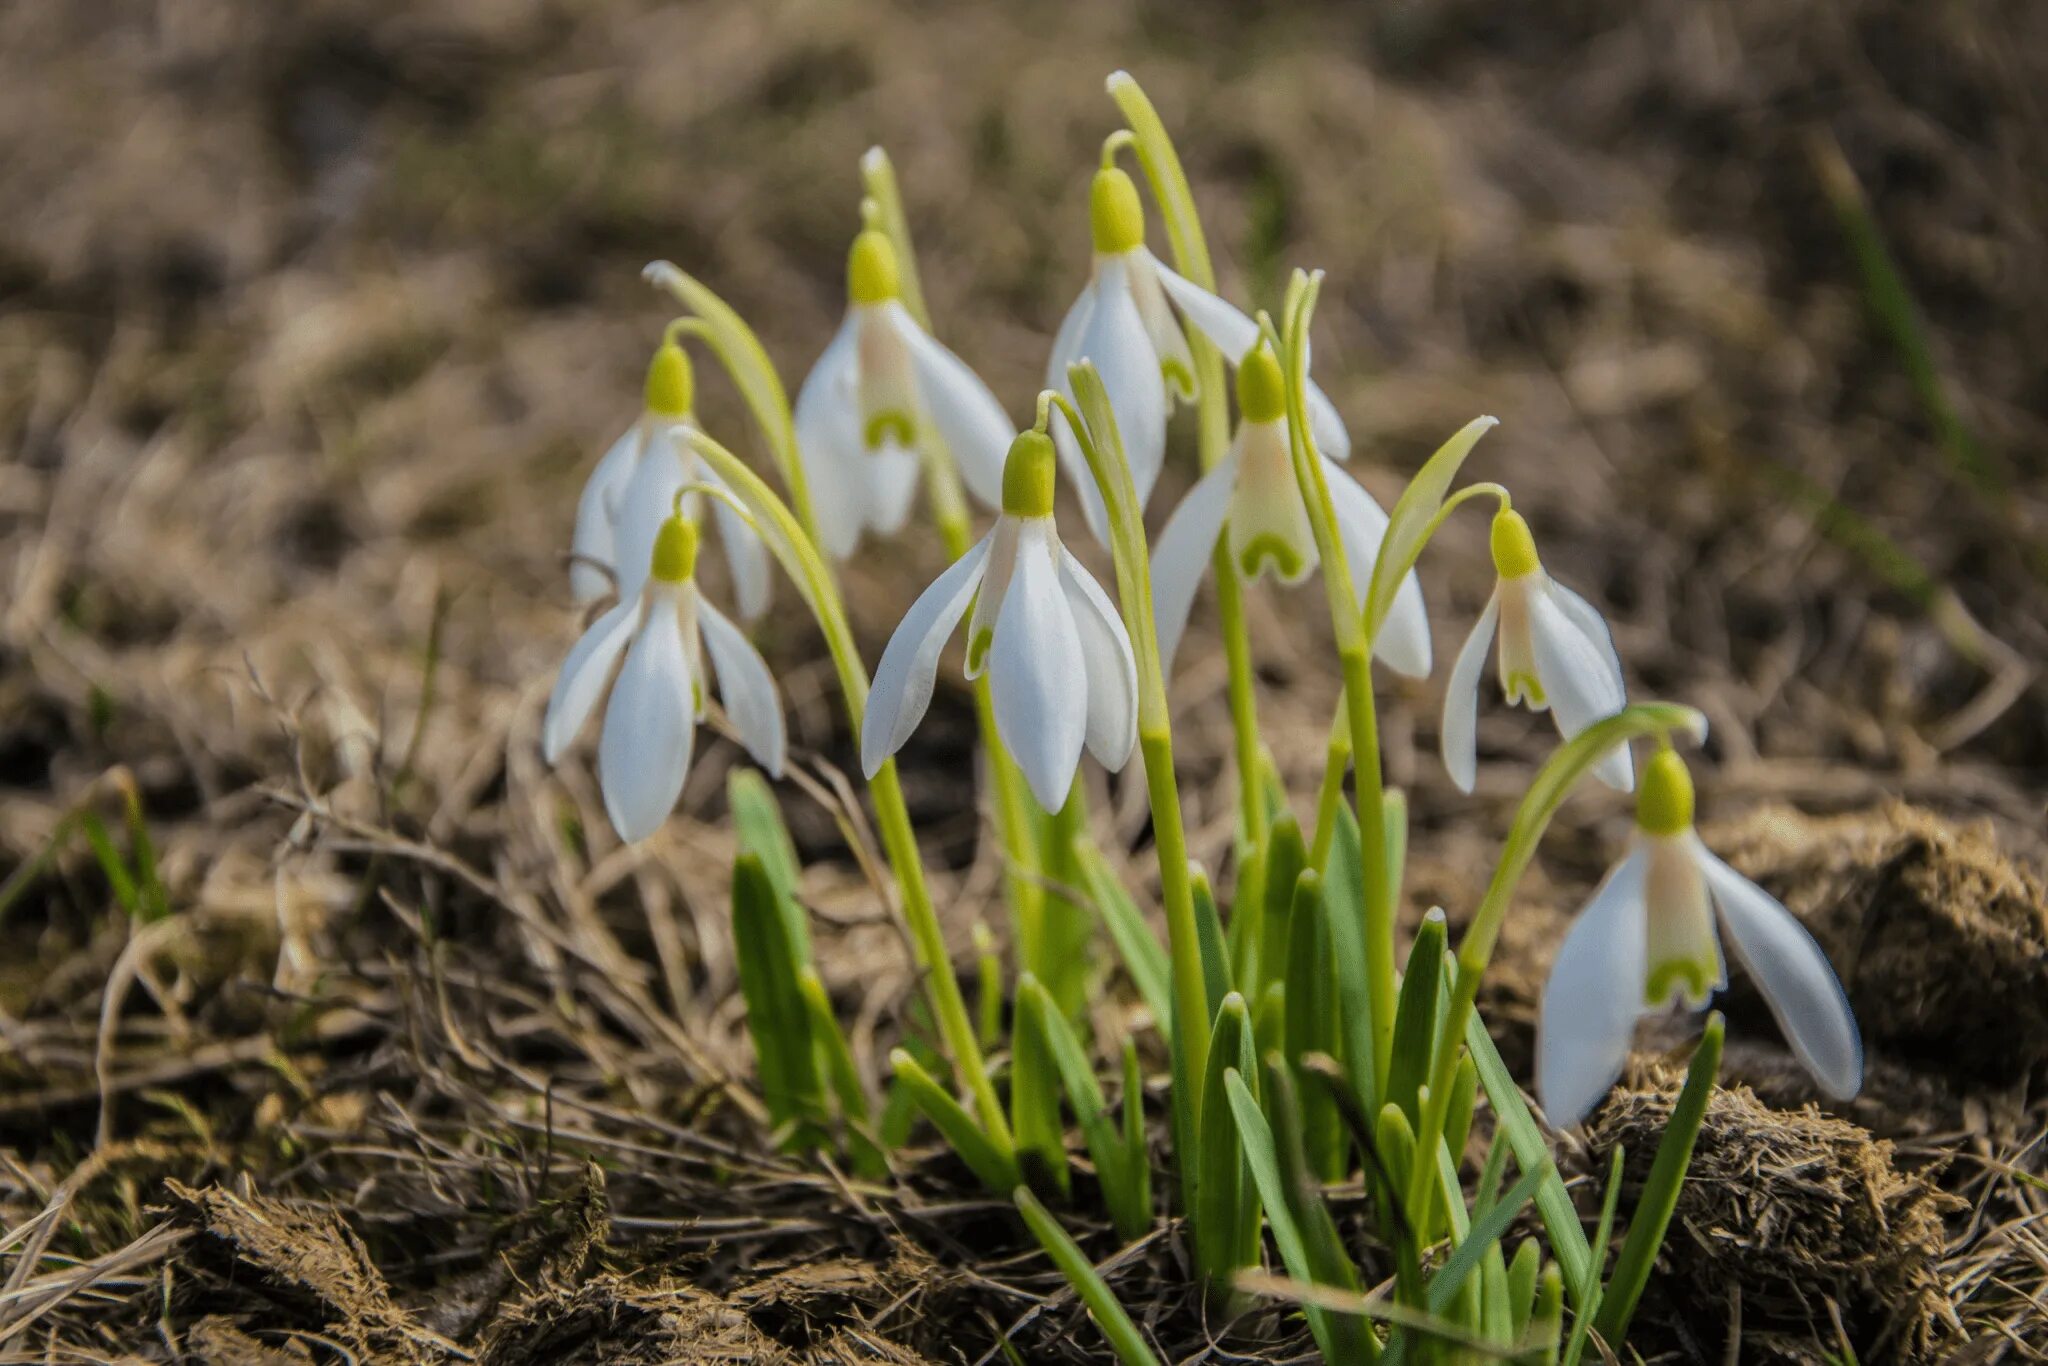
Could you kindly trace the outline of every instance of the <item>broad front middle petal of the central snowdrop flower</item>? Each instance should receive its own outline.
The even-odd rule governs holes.
[[[989,649],[989,694],[995,731],[1032,795],[1047,811],[1059,811],[1087,739],[1087,674],[1051,530],[1051,518],[1022,526],[1018,565]]]

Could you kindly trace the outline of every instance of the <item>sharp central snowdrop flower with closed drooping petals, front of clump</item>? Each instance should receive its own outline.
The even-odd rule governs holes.
[[[967,676],[989,672],[995,731],[1040,807],[1067,803],[1083,745],[1110,770],[1130,758],[1139,715],[1130,637],[1102,586],[1059,543],[1053,477],[1053,442],[1020,434],[1004,465],[995,530],[924,590],[889,639],[860,727],[870,778],[932,705],[938,655],[969,602]]]

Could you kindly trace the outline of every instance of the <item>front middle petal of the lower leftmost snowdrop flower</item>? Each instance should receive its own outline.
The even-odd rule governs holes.
[[[612,829],[627,844],[662,829],[682,797],[696,739],[696,688],[682,645],[674,592],[655,592],[598,739],[598,786]]]

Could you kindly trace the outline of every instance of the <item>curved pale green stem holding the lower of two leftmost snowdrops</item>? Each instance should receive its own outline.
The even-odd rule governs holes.
[[[825,635],[834,670],[840,676],[840,692],[846,698],[846,715],[860,733],[860,719],[866,715],[868,672],[860,661],[860,647],[846,621],[846,606],[840,602],[840,588],[825,565],[817,543],[811,541],[788,506],[776,498],[774,489],[756,475],[745,461],[721,446],[702,432],[692,432],[690,442],[707,465],[741,498],[762,524],[764,541],[782,561],[791,580],[803,592],[811,614]],[[981,1120],[989,1141],[1010,1153],[1010,1120],[995,1098],[995,1083],[989,1081],[981,1044],[975,1038],[975,1022],[967,1014],[967,999],[961,995],[961,979],[952,971],[946,952],[946,936],[938,926],[938,909],[932,905],[932,889],[924,881],[924,862],[918,854],[918,836],[909,823],[909,809],[903,805],[903,784],[897,778],[895,760],[885,762],[868,780],[874,797],[874,819],[881,827],[883,850],[903,893],[903,920],[909,926],[918,969],[932,993],[932,1014],[938,1018],[940,1034],[952,1053],[952,1065],[963,1073],[969,1094],[975,1100],[975,1116]]]

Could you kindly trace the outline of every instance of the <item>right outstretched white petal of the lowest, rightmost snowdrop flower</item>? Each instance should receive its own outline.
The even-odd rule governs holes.
[[[1776,897],[1716,858],[1698,836],[1694,844],[1735,956],[1757,979],[1792,1053],[1823,1092],[1849,1100],[1864,1085],[1864,1040],[1827,954]]]

